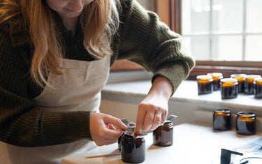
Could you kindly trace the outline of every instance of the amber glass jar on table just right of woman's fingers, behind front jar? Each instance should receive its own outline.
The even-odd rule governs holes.
[[[168,147],[173,144],[173,122],[166,120],[162,126],[153,131],[153,144]]]

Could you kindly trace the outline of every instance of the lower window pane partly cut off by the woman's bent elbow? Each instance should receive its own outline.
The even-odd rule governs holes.
[[[207,36],[184,37],[184,43],[196,60],[210,60],[210,40]]]

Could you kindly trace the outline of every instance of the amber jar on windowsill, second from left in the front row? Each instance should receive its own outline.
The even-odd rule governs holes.
[[[233,78],[221,79],[221,98],[236,98],[238,96],[238,80]]]

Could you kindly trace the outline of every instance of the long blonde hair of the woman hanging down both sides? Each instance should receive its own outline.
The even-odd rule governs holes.
[[[112,35],[117,32],[119,25],[118,4],[118,0],[94,0],[80,15],[84,31],[83,44],[96,59],[112,54]],[[41,87],[52,87],[46,79],[49,73],[61,73],[64,50],[54,19],[50,19],[52,13],[48,4],[45,0],[20,0],[20,4],[14,0],[2,0],[0,6],[0,24],[22,13],[34,45],[31,78]]]

